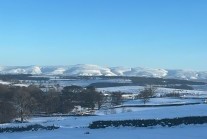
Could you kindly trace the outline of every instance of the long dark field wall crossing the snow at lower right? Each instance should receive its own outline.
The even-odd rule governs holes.
[[[94,121],[89,125],[90,129],[107,127],[173,127],[179,125],[207,124],[207,116],[178,117],[172,119],[138,119],[138,120],[118,120],[118,121]]]

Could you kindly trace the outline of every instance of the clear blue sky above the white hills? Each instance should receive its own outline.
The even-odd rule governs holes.
[[[207,71],[206,0],[0,0],[0,65]]]

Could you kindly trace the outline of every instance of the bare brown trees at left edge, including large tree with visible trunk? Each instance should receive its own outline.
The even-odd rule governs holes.
[[[14,87],[0,85],[0,123],[8,122],[17,116],[37,111],[41,104],[42,92],[36,87]]]

